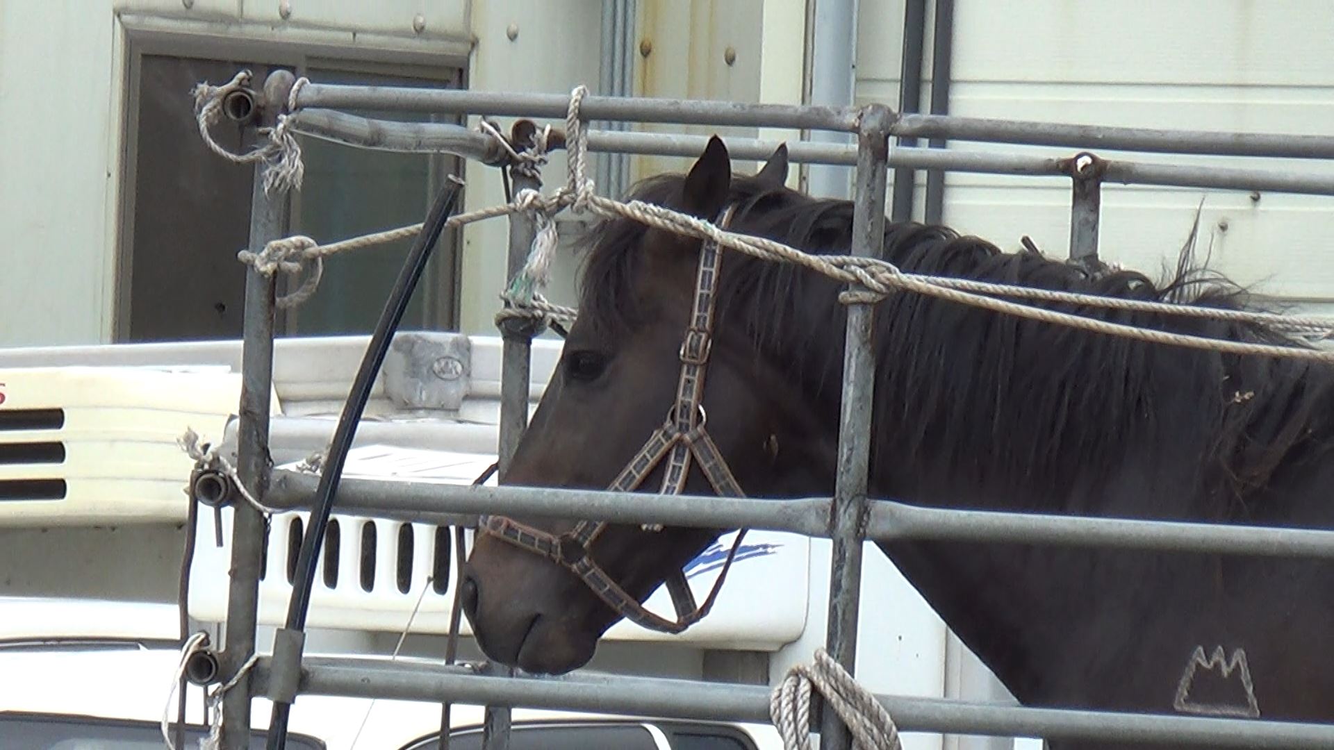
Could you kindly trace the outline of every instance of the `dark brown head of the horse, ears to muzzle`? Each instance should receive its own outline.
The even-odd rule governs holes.
[[[738,176],[714,137],[688,173],[647,180],[634,198],[727,223],[738,202],[752,212],[782,203],[786,177],[786,147],[758,175]],[[812,424],[787,374],[759,356],[740,324],[715,318],[734,256],[635,220],[606,222],[586,262],[579,318],[504,483],[828,492],[828,430]],[[464,573],[464,611],[491,659],[566,673],[586,665],[622,617],[651,619],[638,605],[664,582],[678,601],[682,566],[723,531],[484,518]]]

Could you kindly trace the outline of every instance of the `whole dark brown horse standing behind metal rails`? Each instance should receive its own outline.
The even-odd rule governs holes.
[[[847,254],[852,204],[783,187],[786,151],[732,175],[716,139],[686,176],[632,198],[814,254]],[[610,220],[586,258],[578,323],[514,458],[511,484],[603,488],[674,403],[700,243]],[[906,271],[1203,306],[1250,304],[1193,267],[1170,279],[1000,252],[943,227],[888,223]],[[751,496],[834,488],[843,287],[723,252],[703,391],[708,431]],[[1065,310],[1073,310],[1066,306]],[[1121,323],[1287,342],[1253,323],[1078,310]],[[870,492],[956,508],[1334,527],[1334,372],[1309,360],[1151,344],[915,294],[875,311]],[[659,487],[656,475],[642,484]],[[690,494],[714,494],[700,472]],[[560,532],[574,524],[524,523]],[[608,527],[592,558],[643,601],[716,531]],[[1334,719],[1334,567],[1325,562],[1026,544],[880,548],[1029,706]],[[484,653],[535,673],[592,657],[623,613],[550,559],[479,534],[464,583]],[[863,626],[874,627],[874,623]],[[1238,667],[1198,666],[1197,649]],[[1241,657],[1254,705],[1241,677]],[[1203,675],[1203,678],[1201,677]],[[1217,685],[1210,687],[1209,677]],[[1087,747],[1091,745],[1081,745]]]

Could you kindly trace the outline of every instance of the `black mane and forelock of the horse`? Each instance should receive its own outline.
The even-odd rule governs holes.
[[[682,175],[659,175],[639,183],[630,198],[678,207],[682,188]],[[772,190],[746,176],[734,176],[728,200],[736,206],[732,231],[810,254],[850,252],[848,200]],[[610,332],[644,322],[635,291],[644,238],[646,227],[628,219],[592,230],[580,318]],[[1158,282],[1033,250],[1005,252],[948,227],[915,222],[886,222],[884,258],[916,274],[1259,310],[1246,290],[1195,262],[1195,239],[1193,230],[1178,263]],[[836,404],[846,320],[836,299],[840,288],[794,264],[727,251],[716,302],[719,335],[743,331],[812,399]],[[1299,344],[1254,322],[1035,304],[1199,336]],[[872,467],[892,471],[907,462],[915,474],[1018,492],[1033,506],[1046,498],[1049,507],[1041,510],[1053,510],[1057,498],[1079,487],[1110,480],[1134,462],[1174,476],[1197,495],[1178,511],[1189,504],[1206,518],[1235,518],[1281,468],[1334,446],[1334,374],[1311,360],[1154,344],[916,292],[898,292],[876,306],[875,350]],[[1177,511],[1150,506],[1143,512]]]

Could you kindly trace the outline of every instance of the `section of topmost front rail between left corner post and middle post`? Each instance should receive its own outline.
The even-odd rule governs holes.
[[[570,109],[570,96],[311,83],[301,87],[296,95],[296,107],[563,119]],[[856,132],[860,108],[590,95],[584,96],[580,104],[580,115],[586,121],[626,120],[678,125]]]

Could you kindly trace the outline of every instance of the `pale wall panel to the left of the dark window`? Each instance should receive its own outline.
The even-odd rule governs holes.
[[[109,334],[116,65],[97,9],[0,3],[0,343]]]

